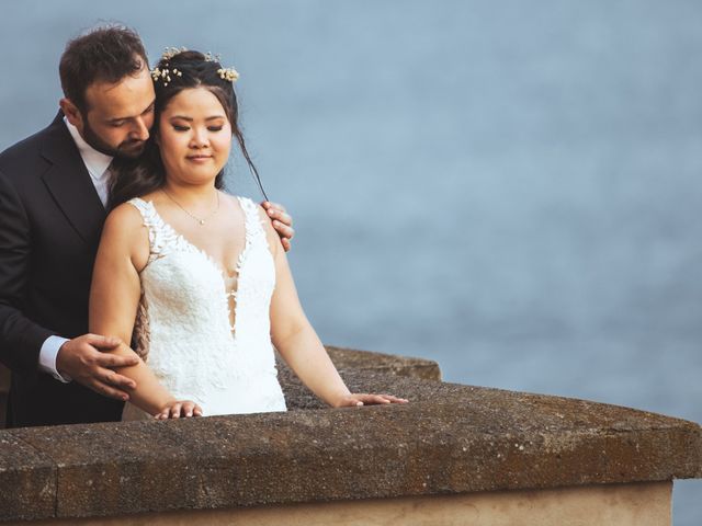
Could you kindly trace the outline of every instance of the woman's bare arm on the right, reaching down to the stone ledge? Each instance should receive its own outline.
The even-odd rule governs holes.
[[[268,225],[268,221],[263,222]],[[267,236],[275,261],[271,336],[287,365],[315,395],[335,408],[406,402],[407,400],[390,395],[349,391],[303,311],[279,236],[270,226],[267,227]]]

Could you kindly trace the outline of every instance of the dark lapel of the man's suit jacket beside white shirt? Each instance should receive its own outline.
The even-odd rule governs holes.
[[[44,184],[83,241],[97,244],[105,209],[60,113],[47,132],[42,155],[52,165]]]

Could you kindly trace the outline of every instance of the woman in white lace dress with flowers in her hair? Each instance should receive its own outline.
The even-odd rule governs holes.
[[[141,358],[120,371],[137,385],[123,419],[285,411],[273,345],[331,407],[407,402],[349,391],[265,213],[222,191],[233,137],[257,174],[237,125],[238,73],[174,49],[152,77],[154,142],[116,178],[90,295],[90,331],[132,341],[114,352]]]

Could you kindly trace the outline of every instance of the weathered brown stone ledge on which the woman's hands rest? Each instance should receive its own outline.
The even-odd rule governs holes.
[[[343,368],[406,405],[0,432],[0,519],[124,516],[702,477],[692,422]]]

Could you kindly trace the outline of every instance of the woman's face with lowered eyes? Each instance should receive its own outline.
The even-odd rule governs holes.
[[[186,89],[161,113],[157,140],[167,180],[208,183],[229,158],[231,125],[213,93],[205,88]]]

